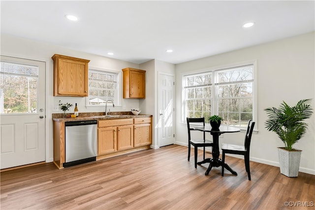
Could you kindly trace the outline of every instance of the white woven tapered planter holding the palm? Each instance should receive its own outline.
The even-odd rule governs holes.
[[[285,150],[284,147],[278,147],[280,173],[288,177],[297,177],[299,174],[300,160],[302,150]]]

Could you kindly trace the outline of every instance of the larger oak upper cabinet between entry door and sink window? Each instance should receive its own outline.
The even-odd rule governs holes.
[[[88,96],[89,60],[55,54],[54,96]]]

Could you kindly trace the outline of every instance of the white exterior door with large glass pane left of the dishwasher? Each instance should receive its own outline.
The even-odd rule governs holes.
[[[1,56],[1,169],[45,161],[45,62]]]

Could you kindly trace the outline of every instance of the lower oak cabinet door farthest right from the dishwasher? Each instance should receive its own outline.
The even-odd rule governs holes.
[[[134,125],[133,131],[134,147],[151,144],[151,124]]]

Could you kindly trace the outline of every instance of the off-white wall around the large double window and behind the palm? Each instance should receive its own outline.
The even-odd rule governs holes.
[[[262,45],[176,65],[176,141],[187,145],[187,125],[180,123],[182,113],[182,75],[206,68],[216,68],[251,60],[257,61],[257,134],[252,136],[251,160],[279,166],[277,147],[283,142],[267,131],[264,108],[285,101],[295,105],[302,99],[313,99],[315,108],[315,33],[290,37]],[[307,120],[309,128],[303,139],[294,145],[303,150],[300,171],[315,174],[315,114]],[[244,133],[224,134],[221,143],[243,143]]]

